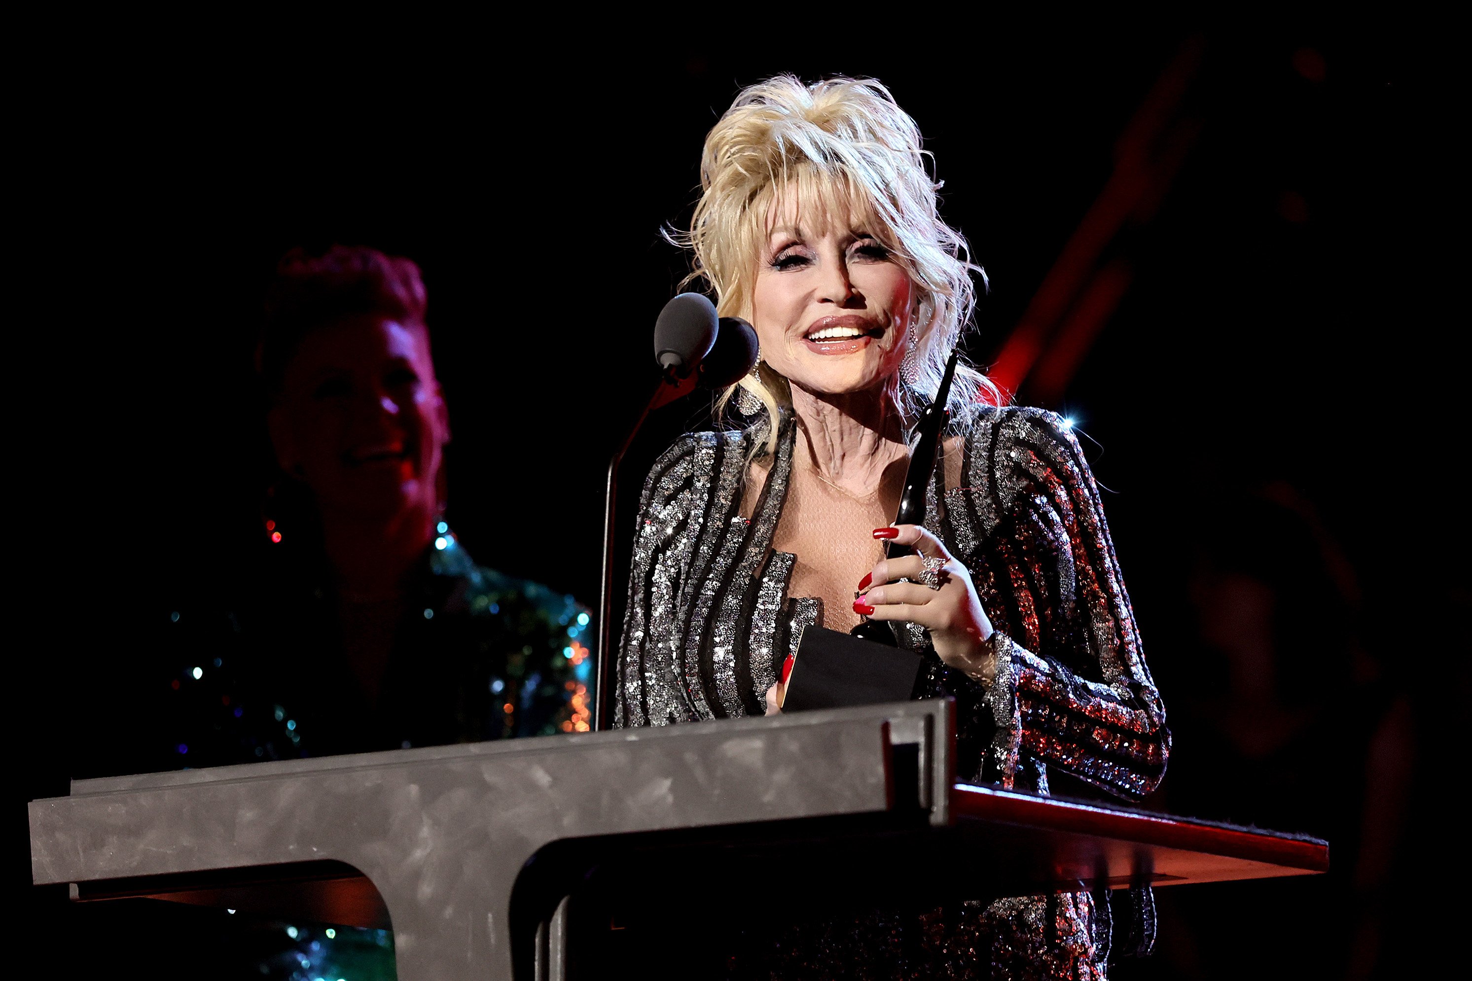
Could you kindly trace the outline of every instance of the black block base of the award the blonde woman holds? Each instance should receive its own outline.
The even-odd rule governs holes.
[[[783,712],[904,702],[916,687],[920,657],[823,627],[807,627],[792,659]]]

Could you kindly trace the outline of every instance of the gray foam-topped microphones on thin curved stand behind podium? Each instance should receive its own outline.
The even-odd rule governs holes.
[[[715,304],[699,293],[682,293],[659,310],[654,322],[654,359],[659,384],[639,413],[629,437],[608,462],[604,490],[604,578],[598,606],[598,688],[593,693],[593,731],[612,725],[614,656],[614,506],[618,497],[618,465],[643,421],[654,409],[702,388],[724,388],[740,381],[757,365],[757,331],[737,316],[715,315]]]

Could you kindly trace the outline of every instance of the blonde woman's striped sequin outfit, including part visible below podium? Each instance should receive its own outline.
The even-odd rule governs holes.
[[[802,625],[818,621],[820,600],[786,597],[792,556],[771,552],[790,421],[780,435],[749,525],[730,460],[760,434],[689,435],[649,475],[617,725],[760,712]],[[957,435],[948,446],[960,446],[960,466],[936,466],[929,524],[973,575],[995,627],[997,678],[982,685],[948,668],[910,625],[901,641],[924,654],[916,697],[955,699],[958,775],[969,782],[1047,794],[1048,772],[1061,771],[1114,794],[1150,793],[1170,735],[1078,441],[1058,416],[1026,407],[985,410]],[[948,469],[958,485],[946,485]],[[1103,978],[1094,900],[1083,893],[818,918],[783,931],[736,957],[736,974]]]

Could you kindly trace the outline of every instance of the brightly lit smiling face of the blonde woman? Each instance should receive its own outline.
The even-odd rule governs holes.
[[[788,194],[767,226],[751,318],[762,360],[814,394],[880,385],[905,354],[916,293],[910,274],[855,209],[820,229]]]

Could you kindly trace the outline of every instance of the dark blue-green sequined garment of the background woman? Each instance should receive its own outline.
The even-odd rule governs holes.
[[[112,772],[224,766],[589,728],[589,610],[571,596],[471,560],[442,528],[415,571],[377,704],[343,656],[327,575],[271,546],[261,593],[221,609],[181,602],[159,618],[146,718]],[[210,579],[213,584],[215,579]],[[390,610],[390,616],[393,610]],[[160,903],[171,907],[172,903]],[[159,910],[162,924],[172,924]],[[387,930],[233,918],[199,977],[392,978]],[[160,935],[175,927],[160,925]],[[160,950],[166,949],[165,946]],[[250,952],[252,959],[237,960]]]

